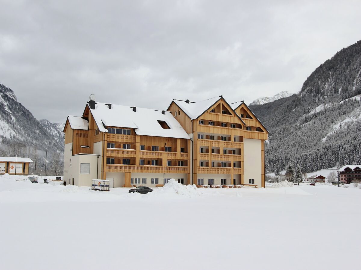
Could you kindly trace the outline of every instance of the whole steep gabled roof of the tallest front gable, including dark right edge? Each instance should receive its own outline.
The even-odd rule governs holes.
[[[239,117],[239,115],[234,111],[230,104],[223,98],[223,96],[215,96],[214,98],[209,98],[205,100],[201,100],[198,102],[187,102],[185,100],[173,99],[172,103],[174,102],[177,106],[185,113],[191,120],[199,118],[202,114],[204,114],[208,109],[212,108],[219,100],[223,100],[229,107],[231,108],[232,112],[235,116],[241,120],[241,122],[245,125],[243,120]],[[171,104],[168,106],[170,108]]]

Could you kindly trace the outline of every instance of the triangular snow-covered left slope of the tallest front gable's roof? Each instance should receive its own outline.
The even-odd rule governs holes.
[[[216,103],[220,96],[215,96],[214,98],[198,101],[198,102],[189,102],[187,103],[184,100],[174,99],[174,103],[178,105],[179,108],[182,109],[184,113],[186,113],[192,120],[197,119],[201,114],[203,114],[210,106]]]

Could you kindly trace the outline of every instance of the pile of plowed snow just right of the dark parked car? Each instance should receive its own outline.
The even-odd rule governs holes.
[[[197,187],[195,185],[191,186],[191,185],[182,185],[179,184],[177,180],[175,179],[170,179],[168,180],[168,183],[165,184],[163,187],[161,188],[156,188],[153,189],[153,192],[149,193],[149,194],[161,194],[161,195],[174,195],[174,194],[178,194],[178,195],[182,195],[184,197],[197,197],[202,195],[202,193],[200,192],[199,189],[197,189]]]

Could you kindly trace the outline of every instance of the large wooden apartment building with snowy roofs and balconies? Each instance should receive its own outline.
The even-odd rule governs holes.
[[[268,131],[243,102],[173,100],[167,111],[90,100],[65,127],[64,179],[111,187],[244,184],[264,187]],[[69,181],[69,182],[68,182]]]

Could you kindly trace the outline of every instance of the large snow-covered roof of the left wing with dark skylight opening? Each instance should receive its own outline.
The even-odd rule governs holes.
[[[116,104],[109,109],[108,104],[99,102],[95,109],[90,106],[89,109],[101,132],[108,132],[106,126],[128,127],[138,135],[190,139],[171,112],[162,114],[162,111],[138,107],[134,112],[133,107]],[[158,121],[166,122],[170,129],[163,129]]]

